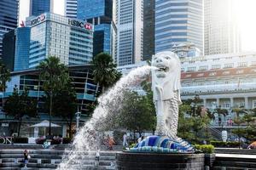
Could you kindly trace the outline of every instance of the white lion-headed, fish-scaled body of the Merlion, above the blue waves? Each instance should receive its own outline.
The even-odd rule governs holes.
[[[171,51],[152,56],[152,88],[157,115],[156,134],[177,139],[181,64]]]

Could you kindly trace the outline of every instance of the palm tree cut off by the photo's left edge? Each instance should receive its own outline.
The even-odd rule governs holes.
[[[9,69],[6,68],[5,65],[3,65],[3,63],[0,63],[0,89],[1,91],[5,92],[7,86],[6,86],[6,82],[10,81],[10,71]],[[2,95],[2,108],[3,108],[3,95]]]

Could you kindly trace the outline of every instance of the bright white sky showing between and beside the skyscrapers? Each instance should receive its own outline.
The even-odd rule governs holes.
[[[236,1],[236,0],[232,0]],[[65,0],[54,0],[54,13],[64,14]],[[237,10],[241,28],[241,49],[243,51],[256,51],[256,0],[237,0]],[[26,20],[29,14],[29,0],[20,0],[20,19]]]

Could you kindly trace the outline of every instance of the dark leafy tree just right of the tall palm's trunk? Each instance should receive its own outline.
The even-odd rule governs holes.
[[[67,122],[69,138],[72,138],[72,122],[77,111],[77,97],[71,82],[61,89],[54,98],[53,115],[60,116]]]

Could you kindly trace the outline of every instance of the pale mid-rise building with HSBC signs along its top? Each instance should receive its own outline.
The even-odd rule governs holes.
[[[18,70],[31,69],[49,56],[58,57],[65,65],[81,65],[92,59],[93,26],[82,20],[45,13],[26,20],[30,28],[28,67],[15,63]],[[24,35],[25,36],[25,35]],[[20,39],[26,43],[26,40]],[[18,48],[19,50],[19,48]],[[23,49],[20,49],[23,50]],[[16,59],[25,59],[17,51]]]

